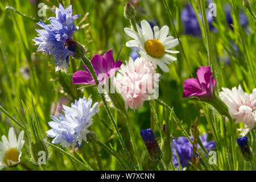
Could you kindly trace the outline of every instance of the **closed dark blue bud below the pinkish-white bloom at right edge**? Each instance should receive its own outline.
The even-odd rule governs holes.
[[[240,147],[243,159],[245,159],[247,161],[252,160],[253,152],[251,151],[251,148],[249,147],[248,138],[247,137],[238,137],[237,144]]]

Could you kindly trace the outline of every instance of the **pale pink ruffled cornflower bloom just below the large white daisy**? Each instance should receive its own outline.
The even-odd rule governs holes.
[[[160,74],[149,61],[138,57],[135,61],[130,57],[126,65],[119,69],[114,83],[125,99],[125,107],[135,110],[141,108],[144,101],[150,100],[158,88]]]

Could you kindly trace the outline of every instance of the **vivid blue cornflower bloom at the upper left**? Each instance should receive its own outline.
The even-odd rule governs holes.
[[[43,51],[53,56],[56,63],[56,71],[64,68],[68,71],[69,56],[74,54],[72,47],[72,35],[78,31],[74,19],[80,15],[73,15],[72,5],[67,9],[60,4],[55,11],[56,17],[49,18],[51,24],[45,24],[42,20],[37,23],[43,30],[38,30],[38,36],[33,39],[35,45],[39,46],[36,51]]]

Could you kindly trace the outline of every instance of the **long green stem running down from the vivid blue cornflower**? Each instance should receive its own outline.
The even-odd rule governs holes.
[[[92,63],[90,63],[89,59],[86,56],[82,57],[82,61],[86,65],[86,67],[89,69],[89,72],[92,75],[93,80],[96,83],[96,86],[98,86],[98,84],[99,84],[98,78],[97,78],[96,73],[95,73],[95,71],[93,69]],[[109,119],[112,122],[112,125],[114,127],[115,133],[117,133],[118,140],[121,143],[121,146],[122,146],[123,150],[125,151],[125,154],[126,154],[127,158],[129,159],[130,164],[133,166],[134,169],[136,169],[134,164],[133,164],[133,162],[132,162],[132,160],[131,160],[131,156],[129,155],[129,152],[127,150],[125,142],[123,142],[122,135],[119,133],[119,130],[118,130],[118,127],[117,127],[117,123],[115,123],[114,117],[113,117],[112,113],[110,112],[110,109],[109,109],[109,106],[108,106],[108,104],[106,102],[105,96],[102,93],[100,93],[100,96],[101,96],[101,100],[102,100],[102,102],[103,102],[103,104],[105,106],[106,112],[107,112],[107,114],[109,116]]]

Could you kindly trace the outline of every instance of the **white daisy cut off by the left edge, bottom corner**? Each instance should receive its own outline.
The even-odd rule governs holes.
[[[8,134],[9,139],[5,135],[2,136],[2,142],[0,142],[0,170],[4,167],[14,167],[19,164],[22,155],[21,150],[24,145],[23,135],[24,131],[21,131],[17,141],[14,128],[11,127]]]

